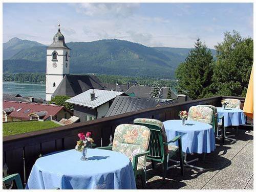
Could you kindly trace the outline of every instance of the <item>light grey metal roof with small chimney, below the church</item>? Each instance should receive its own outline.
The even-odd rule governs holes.
[[[90,93],[92,93],[93,91],[95,93],[95,99],[91,101]],[[84,107],[96,108],[114,99],[117,95],[121,95],[121,94],[125,94],[125,93],[119,92],[119,91],[89,89],[67,100],[66,102],[72,103],[75,105],[84,106]]]

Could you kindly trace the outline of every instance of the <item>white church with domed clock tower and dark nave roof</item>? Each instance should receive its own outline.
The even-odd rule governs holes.
[[[70,75],[70,50],[58,29],[47,47],[46,101],[56,95],[74,97],[88,89],[104,89],[96,76]]]

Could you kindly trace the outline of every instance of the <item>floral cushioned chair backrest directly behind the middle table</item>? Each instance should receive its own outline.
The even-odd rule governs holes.
[[[209,107],[192,106],[188,110],[187,120],[212,124],[212,115],[214,115],[214,112]]]

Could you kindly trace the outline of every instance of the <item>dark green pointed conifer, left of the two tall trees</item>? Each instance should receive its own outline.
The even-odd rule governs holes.
[[[211,51],[197,39],[195,49],[191,50],[185,60],[176,69],[178,92],[186,91],[191,99],[208,97],[212,78]]]

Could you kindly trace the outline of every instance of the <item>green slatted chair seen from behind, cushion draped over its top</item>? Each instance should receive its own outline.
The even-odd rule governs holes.
[[[161,121],[157,119],[150,118],[136,118],[134,119],[135,125],[142,125],[148,127],[151,131],[150,145],[148,149],[150,153],[146,156],[148,160],[151,160],[153,169],[155,168],[155,163],[160,162],[163,166],[163,179],[165,179],[167,170],[172,167],[180,166],[181,175],[183,175],[184,170],[184,161],[183,161],[183,152],[181,145],[181,136],[178,135],[172,140],[167,141],[166,132],[164,125]],[[178,141],[178,146],[168,145],[169,143]],[[179,154],[180,161],[171,159],[174,156]],[[174,161],[177,164],[168,166],[168,161]]]

